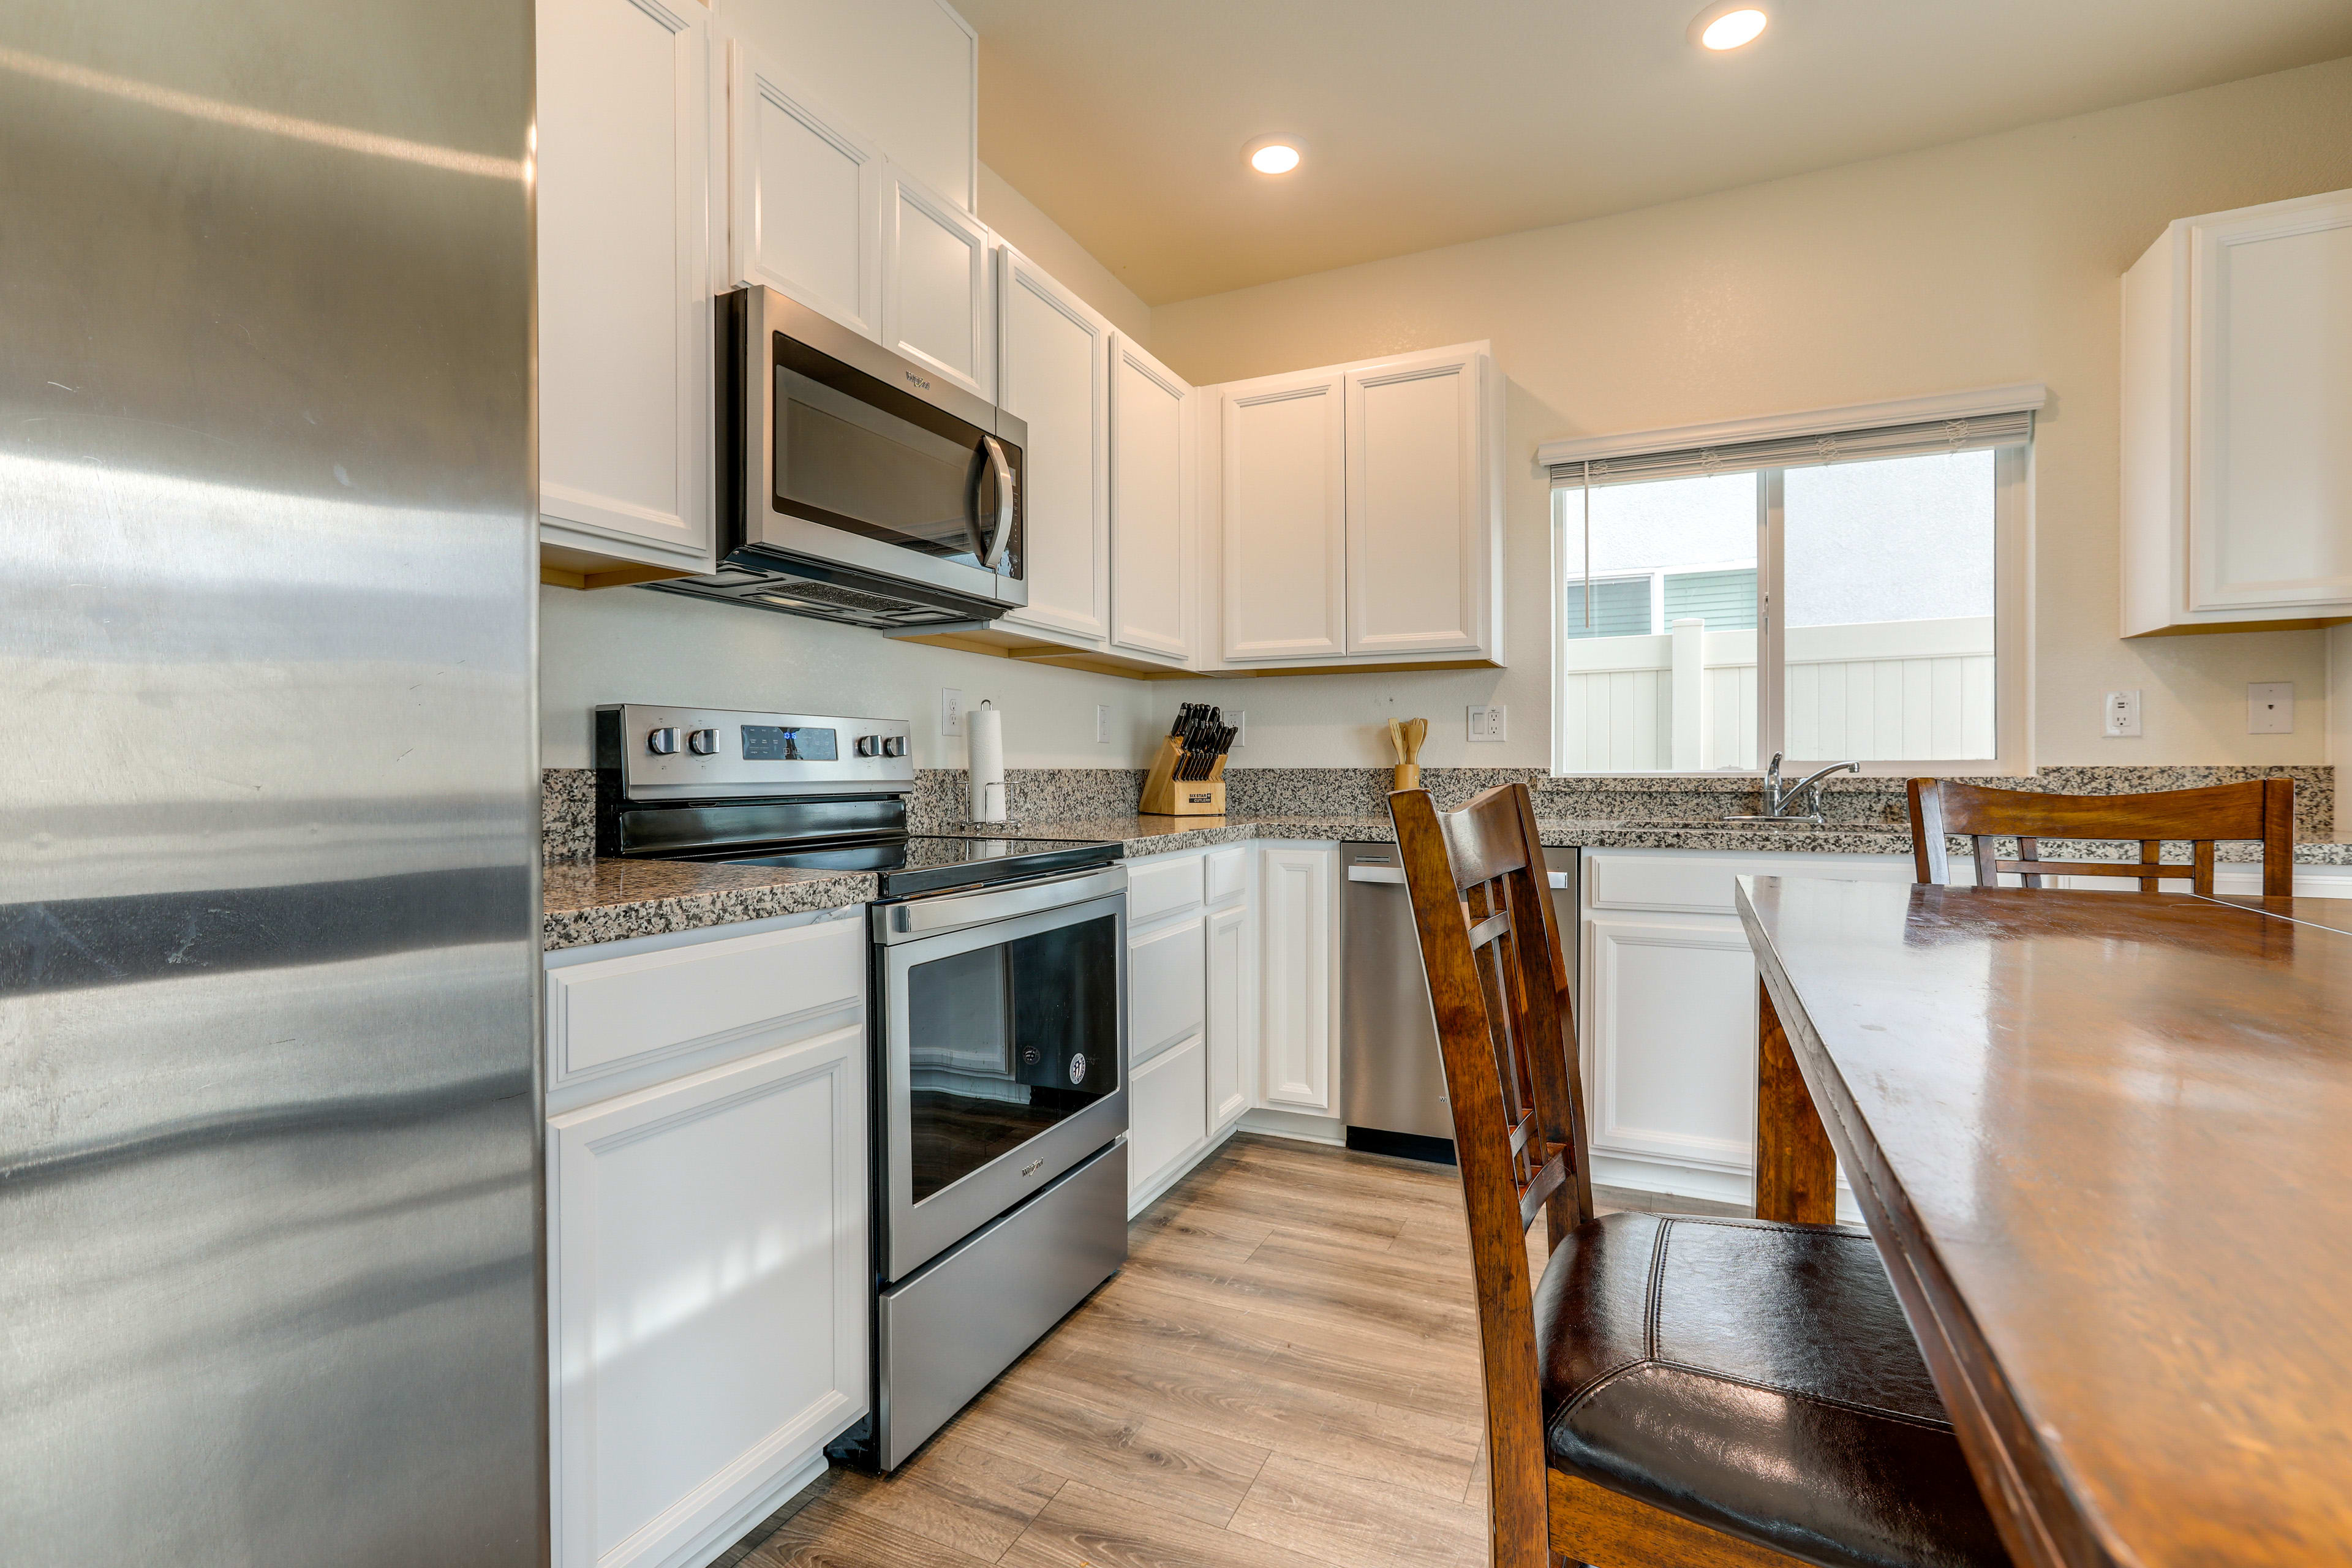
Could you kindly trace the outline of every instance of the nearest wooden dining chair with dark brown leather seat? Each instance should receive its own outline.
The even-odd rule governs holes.
[[[1470,1211],[1494,1566],[2006,1566],[1870,1237],[1592,1213],[1526,785],[1388,809]]]

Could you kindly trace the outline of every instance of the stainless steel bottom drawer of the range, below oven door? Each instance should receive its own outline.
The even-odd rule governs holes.
[[[1127,1262],[1127,1135],[882,1293],[875,1462],[896,1469]]]

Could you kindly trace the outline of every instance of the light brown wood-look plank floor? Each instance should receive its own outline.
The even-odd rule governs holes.
[[[720,1563],[1486,1561],[1451,1168],[1242,1133],[1134,1222],[1129,1248],[913,1462],[826,1474]]]

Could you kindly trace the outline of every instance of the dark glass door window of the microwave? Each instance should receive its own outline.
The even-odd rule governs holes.
[[[1018,447],[783,334],[774,409],[779,512],[1021,576]]]

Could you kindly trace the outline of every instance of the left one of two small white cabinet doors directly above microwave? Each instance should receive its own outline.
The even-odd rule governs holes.
[[[741,40],[727,80],[727,270],[880,341],[880,148]]]

